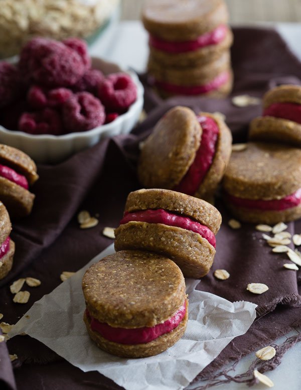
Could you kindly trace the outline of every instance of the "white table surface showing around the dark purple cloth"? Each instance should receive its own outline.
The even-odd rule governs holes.
[[[260,24],[260,26],[264,25],[271,26],[271,24]],[[274,26],[287,41],[294,54],[301,60],[301,24],[279,23]],[[148,54],[147,34],[138,21],[126,21],[117,24],[115,20],[111,23],[104,35],[91,46],[90,53],[91,55],[115,62],[123,68],[131,67],[137,72],[142,72],[145,70]],[[287,337],[294,334],[296,332],[291,332]],[[281,344],[285,339],[285,337],[278,339],[276,344]],[[234,374],[245,372],[254,359],[254,354],[250,354],[241,359]],[[230,372],[230,374],[233,374],[233,372]],[[275,370],[267,372],[266,375],[274,382],[273,389],[275,390],[300,390],[301,342],[288,350],[283,356],[282,363]],[[230,382],[211,388],[220,390],[245,390],[249,387],[244,383]],[[254,388],[261,390],[267,387],[263,384],[258,384]]]

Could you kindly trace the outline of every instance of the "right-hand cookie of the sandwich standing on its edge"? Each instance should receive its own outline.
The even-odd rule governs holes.
[[[212,118],[219,128],[212,164],[195,193],[195,197],[208,200],[214,196],[229,163],[232,150],[232,134],[226,123],[218,115],[210,113],[200,113],[199,115]]]

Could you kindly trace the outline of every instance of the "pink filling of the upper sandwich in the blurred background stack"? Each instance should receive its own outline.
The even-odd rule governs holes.
[[[217,45],[225,39],[227,31],[227,27],[221,25],[209,33],[200,35],[196,40],[184,42],[169,42],[150,35],[149,46],[168,53],[185,53],[201,49],[202,47]]]

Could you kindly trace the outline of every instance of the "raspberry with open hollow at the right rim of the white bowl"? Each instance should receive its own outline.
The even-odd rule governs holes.
[[[98,96],[108,111],[124,112],[136,100],[136,85],[126,73],[112,73],[99,86]]]

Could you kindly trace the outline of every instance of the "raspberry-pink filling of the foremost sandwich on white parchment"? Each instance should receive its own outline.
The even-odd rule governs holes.
[[[157,339],[158,337],[171,332],[176,329],[183,318],[185,317],[187,310],[186,301],[181,308],[162,324],[157,324],[152,327],[143,328],[113,328],[112,326],[99,322],[93,318],[86,309],[86,316],[91,320],[90,327],[93,332],[98,332],[106,340],[113,341],[118,344],[145,344]]]

